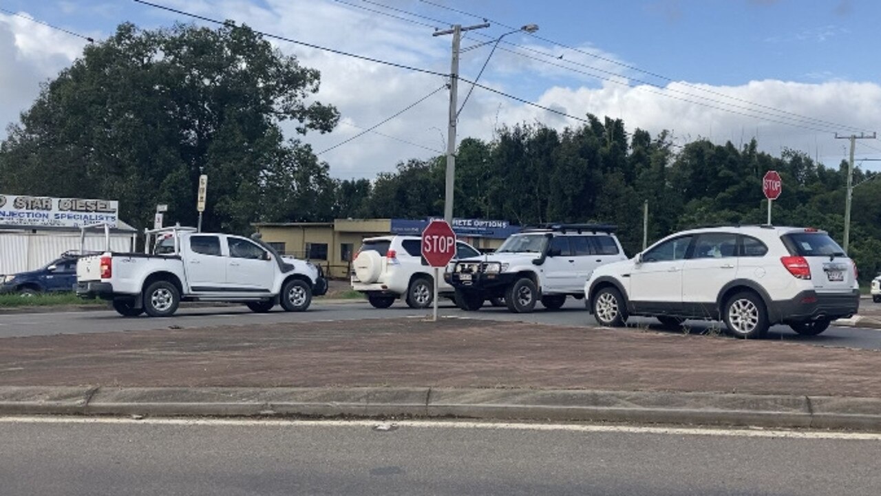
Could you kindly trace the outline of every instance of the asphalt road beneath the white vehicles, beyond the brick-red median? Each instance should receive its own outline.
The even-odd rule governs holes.
[[[322,303],[316,300],[307,312],[287,313],[278,308],[269,314],[254,314],[248,308],[241,307],[200,307],[184,308],[173,317],[122,318],[114,311],[87,312],[56,312],[44,314],[3,314],[0,313],[0,337],[47,336],[54,334],[80,334],[85,332],[111,332],[122,330],[167,329],[169,326],[196,328],[215,325],[253,325],[271,322],[315,322],[331,320],[362,320],[378,318],[394,318],[404,316],[429,315],[431,310],[413,310],[398,301],[387,309],[371,307],[366,301],[347,303]],[[579,300],[569,299],[566,306],[557,311],[544,308],[532,314],[511,314],[504,307],[484,307],[477,312],[464,312],[452,303],[441,302],[441,316],[458,316],[477,319],[500,321],[537,322],[568,326],[596,326],[593,316],[589,315]],[[633,326],[631,331],[640,328],[655,329],[660,332],[678,333],[684,330],[662,329],[654,319],[633,318],[628,322]],[[713,330],[718,323],[687,322],[692,333]],[[353,332],[357,332],[353,328]],[[622,329],[625,331],[625,329]],[[787,326],[775,326],[769,332],[770,341],[798,341],[800,343],[818,344],[823,346],[842,346],[881,350],[881,329],[856,329],[848,327],[832,327],[817,337],[801,337]]]

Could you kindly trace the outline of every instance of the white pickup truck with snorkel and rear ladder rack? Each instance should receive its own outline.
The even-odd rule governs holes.
[[[242,302],[260,313],[281,304],[301,312],[313,295],[327,292],[320,267],[282,257],[259,240],[175,226],[146,231],[144,247],[80,258],[78,295],[111,300],[121,315],[163,317],[181,301]]]

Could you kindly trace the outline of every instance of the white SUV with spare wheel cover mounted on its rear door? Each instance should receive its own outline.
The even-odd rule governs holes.
[[[352,262],[352,289],[363,292],[376,308],[388,308],[401,296],[412,308],[426,308],[434,300],[432,267],[422,258],[419,236],[366,238]],[[472,258],[480,252],[463,241],[455,242],[455,258]],[[441,296],[453,297],[453,288],[438,281]]]

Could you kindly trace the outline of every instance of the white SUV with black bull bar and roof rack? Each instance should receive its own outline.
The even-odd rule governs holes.
[[[464,310],[499,298],[515,313],[532,312],[537,301],[556,310],[566,296],[584,297],[584,281],[597,267],[626,260],[614,230],[594,224],[526,229],[509,236],[492,255],[460,260],[444,277]]]

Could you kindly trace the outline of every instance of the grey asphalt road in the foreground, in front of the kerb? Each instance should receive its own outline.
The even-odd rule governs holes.
[[[0,480],[10,496],[876,496],[881,487],[881,438],[871,434],[377,426],[381,422],[5,418]]]

